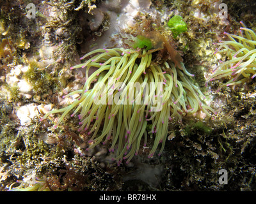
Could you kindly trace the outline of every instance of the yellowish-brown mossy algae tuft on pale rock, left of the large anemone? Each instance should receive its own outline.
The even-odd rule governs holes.
[[[31,84],[37,94],[47,92],[53,84],[56,84],[52,75],[47,73],[45,69],[40,68],[36,61],[29,62],[29,69],[22,78]]]

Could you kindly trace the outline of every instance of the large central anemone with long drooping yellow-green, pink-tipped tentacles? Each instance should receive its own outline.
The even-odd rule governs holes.
[[[147,145],[150,125],[154,145],[148,157],[155,154],[159,143],[161,155],[169,120],[198,111],[211,116],[208,111],[213,110],[202,103],[204,95],[190,82],[193,75],[184,64],[170,60],[159,64],[153,57],[156,52],[145,48],[104,48],[84,55],[81,59],[86,61],[71,68],[86,68],[83,89],[63,96],[78,93],[79,98],[65,108],[52,110],[41,120],[52,113],[62,113],[56,128],[74,108],[71,116],[79,113],[78,130],[85,130],[90,136],[88,149],[109,140],[109,151],[115,152],[118,165],[123,159],[129,163],[141,143]],[[89,76],[92,67],[98,69]]]

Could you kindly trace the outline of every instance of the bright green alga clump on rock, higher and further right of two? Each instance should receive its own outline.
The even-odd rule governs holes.
[[[172,31],[173,38],[177,38],[180,33],[188,31],[186,22],[179,15],[170,18],[167,25]]]

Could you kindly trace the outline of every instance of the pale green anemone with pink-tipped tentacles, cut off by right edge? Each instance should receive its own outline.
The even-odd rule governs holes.
[[[208,78],[206,86],[209,81],[229,77],[227,83],[218,87],[220,91],[225,86],[242,84],[250,77],[256,77],[256,34],[246,28],[243,22],[240,23],[243,27],[240,28],[239,36],[224,33],[230,40],[217,43],[220,47],[214,54],[225,54],[228,61],[220,61],[220,65],[214,69],[215,73]]]

